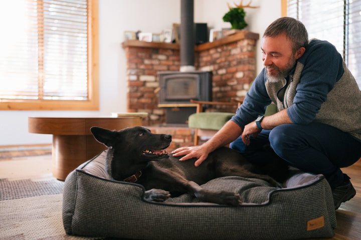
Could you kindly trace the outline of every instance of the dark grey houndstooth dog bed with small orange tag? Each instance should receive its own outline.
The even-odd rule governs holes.
[[[142,199],[136,183],[109,179],[106,151],[83,163],[65,180],[63,223],[67,234],[134,239],[297,239],[332,237],[333,199],[323,175],[295,171],[275,188],[237,176],[202,185],[238,192],[242,205],[199,202],[190,194],[165,202]]]

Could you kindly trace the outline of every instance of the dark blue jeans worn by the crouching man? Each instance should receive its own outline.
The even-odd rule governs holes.
[[[333,188],[343,181],[340,167],[350,166],[361,157],[361,141],[333,126],[283,124],[250,136],[246,146],[239,137],[230,147],[255,164],[266,163],[272,149],[292,166],[305,172],[323,174]],[[267,147],[267,145],[271,147]]]

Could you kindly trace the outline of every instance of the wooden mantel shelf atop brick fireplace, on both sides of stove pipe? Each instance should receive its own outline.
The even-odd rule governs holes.
[[[218,47],[224,44],[228,44],[234,41],[242,40],[242,39],[254,39],[257,40],[259,38],[258,33],[241,30],[235,34],[222,37],[220,39],[214,40],[212,42],[206,42],[200,45],[195,46],[196,51],[203,51],[213,47]],[[151,48],[167,48],[167,49],[179,49],[178,43],[169,43],[169,42],[148,42],[148,41],[139,41],[139,40],[126,40],[122,42],[122,47],[151,47]]]

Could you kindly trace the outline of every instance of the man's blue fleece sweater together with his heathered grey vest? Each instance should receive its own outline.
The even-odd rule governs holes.
[[[341,55],[327,41],[312,39],[287,79],[280,82],[268,82],[263,68],[231,120],[244,128],[263,115],[271,102],[277,103],[278,111],[287,108],[293,123],[319,121],[361,139],[361,91]],[[346,128],[336,122],[348,118]]]

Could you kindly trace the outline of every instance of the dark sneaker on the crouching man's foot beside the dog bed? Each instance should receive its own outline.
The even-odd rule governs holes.
[[[353,188],[349,179],[349,176],[343,173],[343,182],[332,189],[335,210],[342,202],[348,201],[356,194],[356,190]]]

